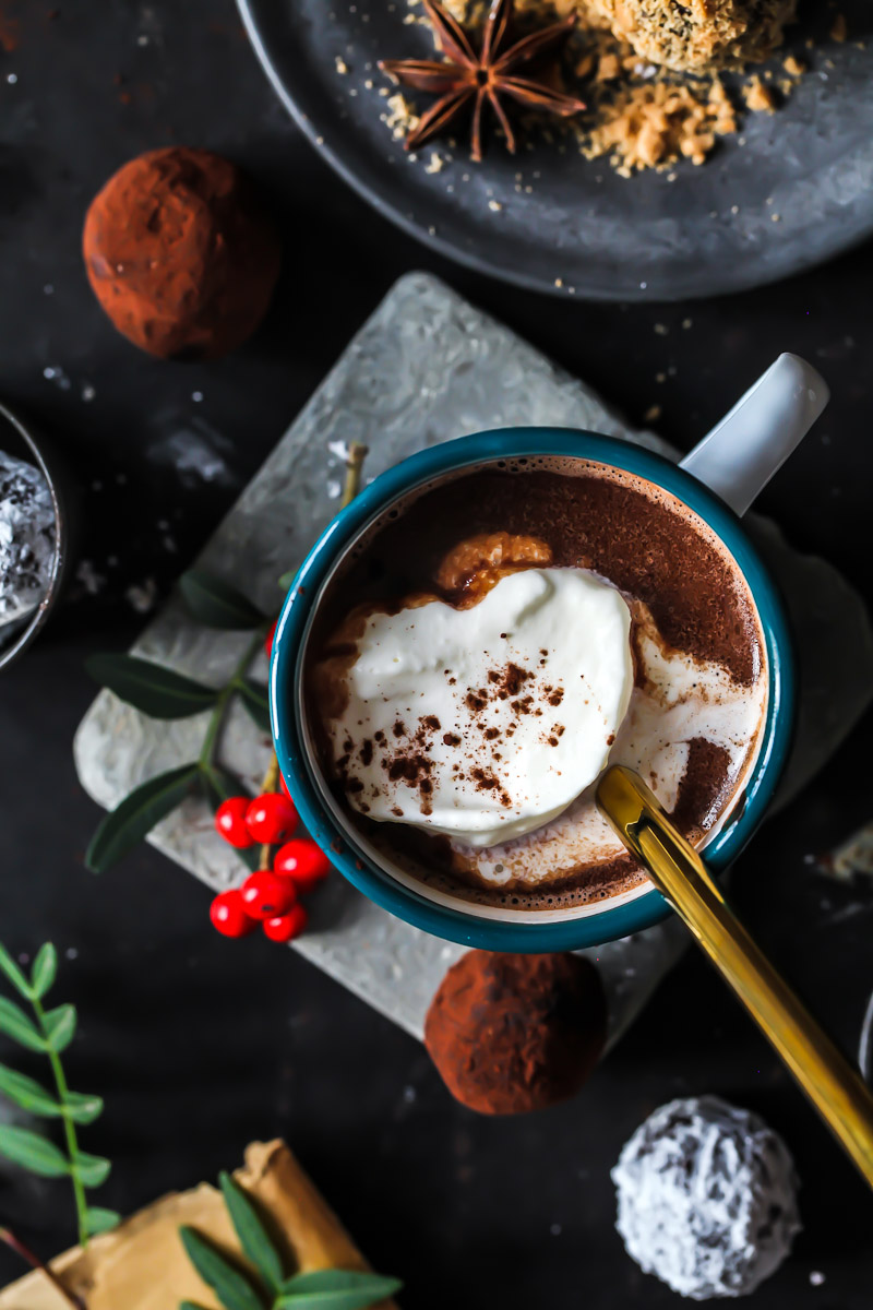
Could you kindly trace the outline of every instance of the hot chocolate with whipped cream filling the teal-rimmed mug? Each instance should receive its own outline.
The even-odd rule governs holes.
[[[526,590],[538,596],[550,579],[561,582],[552,570],[584,570],[572,576],[620,593],[619,608],[630,612],[630,698],[620,671],[610,689],[602,659],[593,676],[597,633],[580,629],[576,610],[565,624],[552,616],[539,651],[510,631],[488,645],[501,597],[509,607],[525,592],[507,579],[526,571]],[[559,603],[579,604],[573,587],[552,592]],[[525,613],[538,631],[537,616]],[[522,618],[513,620],[518,631]],[[427,633],[427,656],[458,630],[475,631],[487,647],[479,664],[479,646],[462,648],[459,673],[438,668],[444,660],[435,656],[427,677],[416,679],[424,665],[410,643]],[[564,633],[575,634],[572,645]],[[510,651],[503,664],[497,638]],[[504,694],[508,668],[516,669],[513,694]],[[458,676],[470,685],[458,688]],[[603,705],[620,705],[619,722],[609,722],[609,710],[598,720],[599,701],[585,700],[582,710],[576,676],[589,679]],[[453,474],[368,529],[322,599],[306,705],[325,777],[389,866],[486,905],[556,909],[644,880],[594,806],[606,762],[636,768],[692,840],[722,821],[757,753],[767,669],[749,590],[705,523],[632,474],[543,456]],[[533,715],[543,713],[541,731]],[[607,735],[599,748],[586,736],[582,753],[594,765],[568,795],[568,769],[580,755],[573,740],[598,724]],[[550,789],[558,804],[547,803]],[[493,823],[476,816],[484,837],[463,819],[476,790],[493,810]],[[541,821],[518,817],[538,804]],[[441,816],[437,831],[433,814]],[[496,836],[504,817],[510,840]]]

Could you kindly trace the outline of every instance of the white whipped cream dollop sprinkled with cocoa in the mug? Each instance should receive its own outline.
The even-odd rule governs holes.
[[[524,569],[470,608],[372,613],[326,727],[351,804],[491,846],[598,776],[633,686],[631,612],[582,569]]]

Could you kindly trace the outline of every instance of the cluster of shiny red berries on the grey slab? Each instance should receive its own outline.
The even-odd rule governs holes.
[[[237,850],[255,842],[279,850],[272,857],[272,869],[259,869],[242,887],[216,896],[209,908],[213,926],[224,937],[247,937],[258,924],[271,942],[298,937],[308,918],[298,897],[327,876],[330,861],[310,838],[292,838],[297,811],[284,779],[281,791],[264,791],[254,800],[230,796],[216,811],[215,825]]]

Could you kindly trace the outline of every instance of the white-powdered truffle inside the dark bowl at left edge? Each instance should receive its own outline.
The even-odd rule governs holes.
[[[0,451],[0,626],[39,604],[54,555],[55,511],[46,479]]]

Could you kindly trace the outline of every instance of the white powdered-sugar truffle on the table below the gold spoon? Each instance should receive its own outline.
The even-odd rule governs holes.
[[[719,1096],[671,1100],[649,1115],[613,1182],[628,1255],[694,1301],[754,1292],[801,1227],[781,1137]]]

